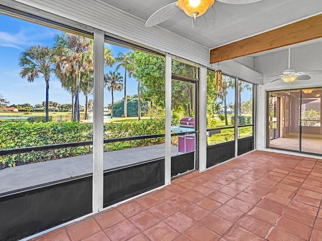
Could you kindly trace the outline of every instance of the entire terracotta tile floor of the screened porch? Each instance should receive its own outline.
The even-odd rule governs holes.
[[[322,240],[322,160],[256,151],[33,240]]]

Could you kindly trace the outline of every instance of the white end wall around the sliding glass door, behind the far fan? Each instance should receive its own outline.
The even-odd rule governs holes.
[[[322,43],[313,43],[300,47],[291,48],[291,69],[296,71],[322,70]],[[255,57],[255,70],[264,76],[278,75],[288,68],[288,49],[279,52]],[[257,149],[264,150],[266,147],[266,91],[282,90],[300,87],[321,87],[322,75],[311,75],[310,80],[297,80],[293,83],[285,83],[282,80],[258,86],[257,98]]]

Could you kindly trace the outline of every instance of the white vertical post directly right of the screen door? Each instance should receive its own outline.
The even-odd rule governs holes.
[[[199,79],[199,170],[207,163],[207,67],[200,66]]]

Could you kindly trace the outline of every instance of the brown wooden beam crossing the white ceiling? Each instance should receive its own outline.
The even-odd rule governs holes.
[[[322,14],[210,50],[210,63],[322,37]]]

